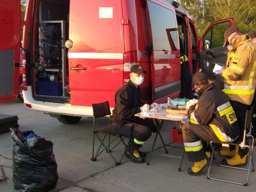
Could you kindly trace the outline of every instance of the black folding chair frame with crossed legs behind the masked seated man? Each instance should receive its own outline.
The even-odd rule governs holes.
[[[97,110],[96,109],[97,107],[103,107],[104,109],[102,109],[101,111],[101,114],[97,114]],[[109,134],[109,133],[104,133],[104,132],[101,132],[101,130],[99,128],[98,129],[96,128],[96,119],[99,118],[99,117],[108,117],[109,118],[109,125],[105,125],[105,126],[110,126],[110,115],[111,115],[111,112],[110,112],[110,105],[109,105],[109,101],[105,101],[103,103],[96,103],[96,104],[92,104],[92,109],[93,109],[93,129],[92,129],[92,134],[93,134],[93,140],[92,140],[92,157],[91,157],[91,161],[96,161],[97,160],[97,157],[99,157],[99,155],[101,155],[101,153],[106,150],[107,153],[110,154],[110,157],[114,160],[115,162],[115,165],[118,166],[118,165],[121,165],[121,161],[125,155],[125,152],[127,150],[127,147],[128,147],[128,144],[126,144],[124,142],[124,139],[125,137],[119,135],[119,134]],[[96,128],[96,129],[95,129]],[[104,134],[103,136],[100,135],[101,134]],[[97,152],[94,154],[94,147],[95,147],[95,135],[96,137],[99,139],[99,141],[101,142]],[[106,143],[106,138],[107,138],[107,135],[109,135],[109,140],[108,142]],[[114,136],[113,139],[111,139],[110,137]],[[113,147],[110,148],[110,144],[112,144],[114,141],[116,141],[116,139],[119,138],[119,142],[117,144],[115,144]],[[130,142],[130,140],[129,140]],[[129,143],[128,142],[128,143]],[[119,143],[123,143],[124,146],[125,146],[125,150],[123,152],[123,155],[121,157],[121,159],[118,161],[116,158],[114,158],[114,156],[111,154],[112,150],[119,145]]]

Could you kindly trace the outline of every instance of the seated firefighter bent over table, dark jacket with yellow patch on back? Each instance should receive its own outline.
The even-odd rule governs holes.
[[[182,127],[185,152],[194,165],[189,175],[198,175],[209,163],[210,152],[205,152],[202,141],[234,142],[239,135],[237,117],[227,96],[207,75],[197,73],[192,81],[198,89],[198,103],[189,109],[190,122]],[[201,141],[202,140],[202,141]]]

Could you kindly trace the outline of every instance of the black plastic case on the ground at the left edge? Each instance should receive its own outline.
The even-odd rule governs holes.
[[[0,114],[0,134],[9,132],[10,127],[18,128],[18,116]]]

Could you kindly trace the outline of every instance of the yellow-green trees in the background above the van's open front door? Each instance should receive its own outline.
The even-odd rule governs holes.
[[[244,33],[256,31],[256,0],[180,0],[193,18],[199,37],[210,23],[233,17]],[[222,33],[222,31],[221,31]]]

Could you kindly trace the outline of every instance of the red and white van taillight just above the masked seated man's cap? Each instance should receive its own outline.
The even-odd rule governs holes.
[[[130,79],[130,68],[137,64],[137,51],[134,50],[124,53],[123,62],[123,84],[125,84]]]

